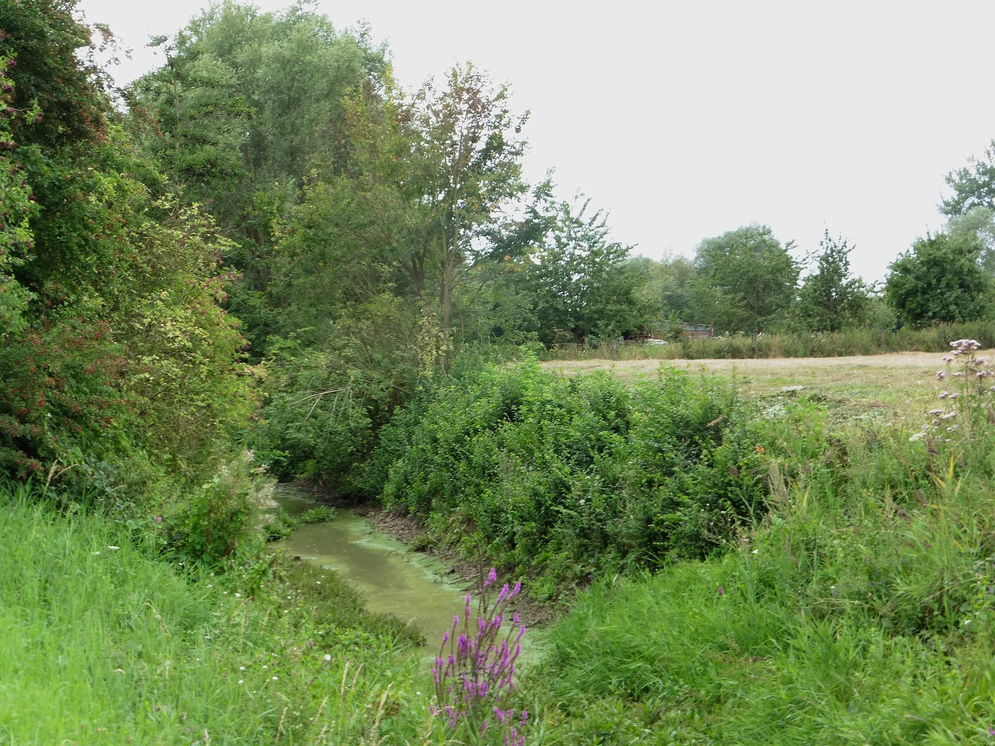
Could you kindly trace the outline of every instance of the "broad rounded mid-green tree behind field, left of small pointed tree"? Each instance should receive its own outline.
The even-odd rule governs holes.
[[[791,303],[798,264],[767,226],[750,225],[705,239],[695,267],[697,321],[719,331],[764,331]]]

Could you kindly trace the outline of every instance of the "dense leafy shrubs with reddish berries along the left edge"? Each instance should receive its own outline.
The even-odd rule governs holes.
[[[134,501],[209,472],[252,408],[226,242],[135,156],[72,5],[7,5],[0,466]]]

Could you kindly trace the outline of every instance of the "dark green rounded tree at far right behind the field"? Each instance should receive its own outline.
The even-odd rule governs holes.
[[[988,309],[991,280],[978,265],[970,234],[918,239],[890,266],[885,297],[905,323],[971,321]]]

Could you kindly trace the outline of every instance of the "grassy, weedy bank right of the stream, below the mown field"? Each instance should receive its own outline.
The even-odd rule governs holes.
[[[988,396],[772,464],[768,516],[723,557],[582,593],[526,686],[542,742],[995,741]]]

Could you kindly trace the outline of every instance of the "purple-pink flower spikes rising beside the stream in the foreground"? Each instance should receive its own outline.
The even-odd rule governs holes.
[[[432,666],[436,703],[433,713],[446,718],[450,728],[466,724],[478,736],[494,725],[501,729],[505,746],[524,746],[519,734],[528,720],[522,710],[518,718],[511,708],[501,707],[501,698],[514,687],[514,663],[521,653],[521,638],[525,634],[517,612],[502,634],[508,603],[521,593],[521,583],[508,588],[505,583],[492,606],[488,589],[497,580],[491,568],[484,581],[484,593],[473,619],[473,598],[468,593],[461,628],[460,616],[453,617],[453,627],[443,633],[442,646]],[[447,654],[448,646],[448,654]]]

